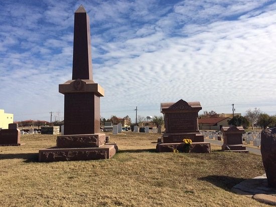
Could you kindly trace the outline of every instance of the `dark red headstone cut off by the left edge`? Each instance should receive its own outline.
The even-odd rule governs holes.
[[[21,132],[17,124],[9,124],[8,129],[0,130],[0,146],[20,146]]]

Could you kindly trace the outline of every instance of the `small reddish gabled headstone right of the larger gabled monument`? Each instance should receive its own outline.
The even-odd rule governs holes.
[[[223,134],[222,150],[248,152],[242,144],[242,134],[244,133],[242,126],[223,126],[221,130]]]

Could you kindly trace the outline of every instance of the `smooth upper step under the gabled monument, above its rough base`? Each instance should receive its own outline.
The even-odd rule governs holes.
[[[199,132],[164,133],[162,136],[163,143],[178,143],[183,142],[183,139],[191,139],[192,142],[204,142],[204,136]]]

